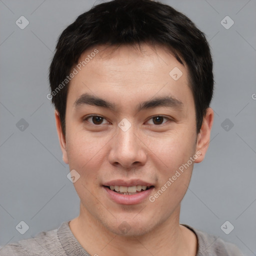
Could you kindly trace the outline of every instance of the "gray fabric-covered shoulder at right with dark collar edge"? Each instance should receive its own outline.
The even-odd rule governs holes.
[[[226,242],[219,236],[211,235],[196,228],[184,225],[192,230],[197,236],[196,256],[243,256],[239,248],[233,243]]]

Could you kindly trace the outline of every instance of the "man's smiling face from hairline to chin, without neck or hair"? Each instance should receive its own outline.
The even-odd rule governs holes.
[[[166,48],[96,48],[70,81],[65,137],[56,115],[63,160],[80,175],[81,217],[145,234],[178,218],[209,133],[197,137],[188,70]]]

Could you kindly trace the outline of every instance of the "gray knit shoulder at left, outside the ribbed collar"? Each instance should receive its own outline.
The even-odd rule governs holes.
[[[23,239],[1,246],[0,256],[65,255],[65,251],[58,238],[57,230],[42,231],[33,238]]]

